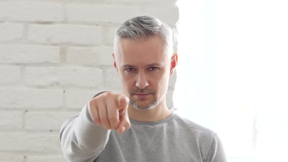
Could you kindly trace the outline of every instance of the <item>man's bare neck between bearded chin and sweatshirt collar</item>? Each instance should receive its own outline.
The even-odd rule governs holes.
[[[128,115],[130,119],[136,121],[161,121],[168,118],[171,111],[167,108],[166,101],[163,100],[150,110],[137,110],[129,104]]]

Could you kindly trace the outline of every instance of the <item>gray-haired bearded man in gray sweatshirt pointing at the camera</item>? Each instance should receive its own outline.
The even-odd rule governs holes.
[[[172,43],[171,28],[154,17],[122,24],[112,56],[123,94],[99,93],[63,123],[60,141],[69,162],[226,162],[213,131],[166,106],[178,62]]]

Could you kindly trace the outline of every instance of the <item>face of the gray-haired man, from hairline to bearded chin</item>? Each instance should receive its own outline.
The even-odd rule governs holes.
[[[113,57],[123,93],[134,108],[148,110],[165,102],[169,76],[174,68],[170,68],[170,58],[161,39],[152,37],[137,42],[122,39]]]

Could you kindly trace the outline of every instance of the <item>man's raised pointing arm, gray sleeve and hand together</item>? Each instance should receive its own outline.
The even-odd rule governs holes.
[[[123,94],[101,92],[79,115],[65,121],[60,131],[63,154],[69,162],[93,162],[108,142],[111,129],[130,128],[129,100]]]

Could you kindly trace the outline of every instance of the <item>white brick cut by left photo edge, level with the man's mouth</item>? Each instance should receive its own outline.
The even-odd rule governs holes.
[[[62,90],[58,89],[1,88],[0,108],[61,108],[62,95]]]

